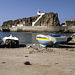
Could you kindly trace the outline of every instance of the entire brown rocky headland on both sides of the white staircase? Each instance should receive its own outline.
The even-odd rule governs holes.
[[[22,19],[17,19],[17,20],[9,20],[5,21],[2,25],[2,27],[12,27],[12,26],[17,26],[18,24],[22,24],[23,26],[32,26],[32,22],[35,22],[36,19],[39,16],[34,16],[34,17],[29,17],[29,18],[22,18]],[[58,19],[58,14],[57,13],[45,13],[38,22],[35,23],[35,26],[59,26],[60,22]]]

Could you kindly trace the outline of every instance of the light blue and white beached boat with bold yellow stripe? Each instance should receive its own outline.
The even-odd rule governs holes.
[[[40,43],[40,46],[42,47],[58,47],[59,42],[55,42],[55,38],[50,37],[50,36],[45,36],[45,35],[38,35],[37,38],[38,42]]]

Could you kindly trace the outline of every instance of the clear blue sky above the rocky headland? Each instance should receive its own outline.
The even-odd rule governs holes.
[[[0,26],[4,21],[44,13],[58,13],[60,23],[75,18],[75,0],[0,0]]]

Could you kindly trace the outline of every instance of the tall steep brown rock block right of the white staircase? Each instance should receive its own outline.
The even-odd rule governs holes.
[[[59,26],[60,22],[57,13],[46,13],[40,18],[40,20],[35,24],[35,26]]]

